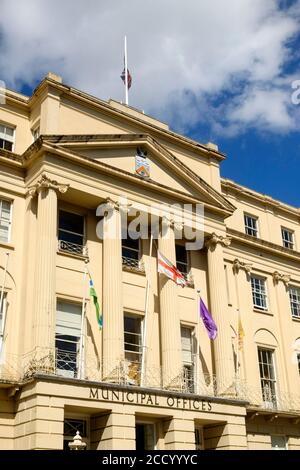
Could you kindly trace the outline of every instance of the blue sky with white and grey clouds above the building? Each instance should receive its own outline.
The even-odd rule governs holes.
[[[30,94],[52,71],[124,101],[126,35],[131,106],[216,143],[223,177],[300,207],[299,26],[300,0],[0,0],[0,80]]]

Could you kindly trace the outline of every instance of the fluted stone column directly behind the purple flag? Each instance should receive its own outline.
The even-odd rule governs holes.
[[[223,247],[230,245],[230,238],[213,233],[206,242],[211,314],[217,324],[218,334],[213,341],[217,380],[217,393],[235,393],[234,363],[231,343],[230,319],[227,307],[226,279]]]

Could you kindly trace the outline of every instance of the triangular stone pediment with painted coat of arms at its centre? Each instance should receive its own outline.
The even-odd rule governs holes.
[[[149,135],[45,136],[46,142],[64,148],[122,173],[186,194],[227,212],[234,207],[226,198],[168,149]]]

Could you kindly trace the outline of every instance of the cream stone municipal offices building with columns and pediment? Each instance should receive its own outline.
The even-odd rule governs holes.
[[[224,158],[54,74],[31,97],[7,90],[1,449],[68,448],[79,431],[99,450],[300,450],[300,212],[222,179]],[[184,204],[184,226],[160,212]],[[187,250],[197,205],[204,243]],[[151,253],[150,237],[98,236],[136,210],[156,211]],[[158,250],[185,287],[158,274]]]

